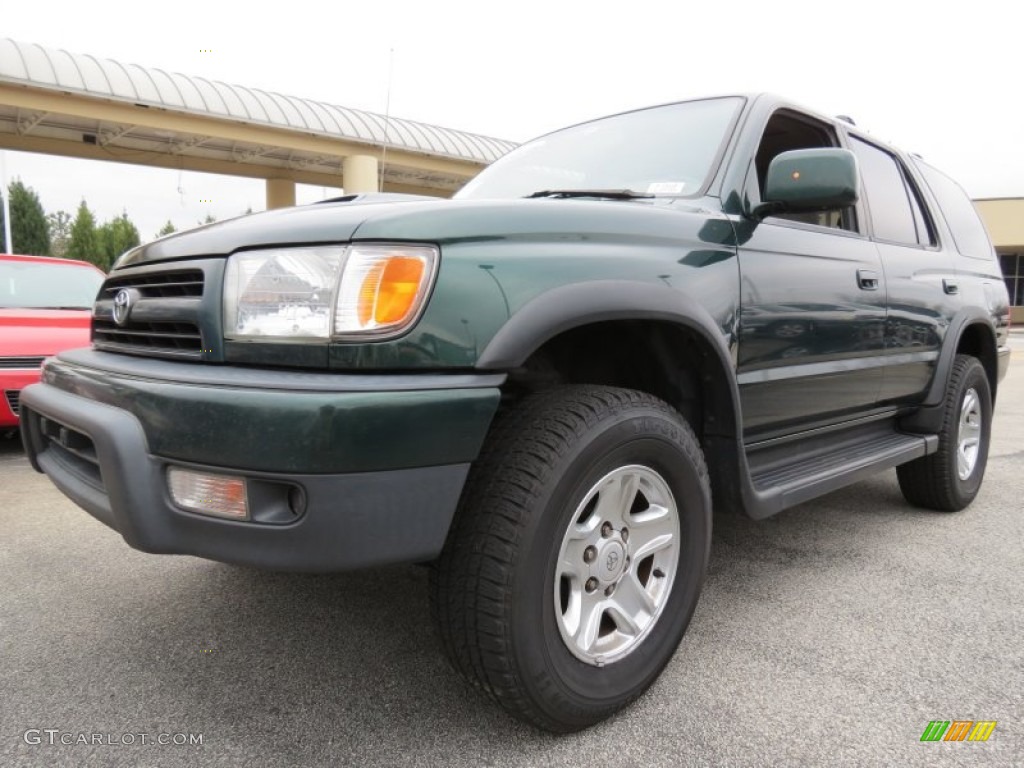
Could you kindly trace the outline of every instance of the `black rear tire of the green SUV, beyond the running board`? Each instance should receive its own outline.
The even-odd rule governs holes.
[[[962,415],[965,400],[974,399],[969,410],[976,414],[979,442],[977,454],[965,476],[961,474]],[[976,357],[956,355],[946,385],[943,402],[939,450],[896,468],[903,498],[910,504],[939,512],[956,512],[967,507],[978,495],[988,461],[988,442],[992,430],[992,394],[985,369]],[[965,467],[966,471],[966,467]]]

